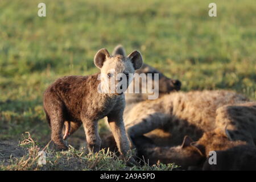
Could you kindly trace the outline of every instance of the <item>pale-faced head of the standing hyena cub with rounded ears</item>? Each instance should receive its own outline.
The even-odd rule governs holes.
[[[107,49],[100,49],[94,57],[94,64],[101,70],[100,91],[122,94],[133,80],[135,70],[142,67],[142,63],[139,51],[133,51],[128,56],[112,56]]]

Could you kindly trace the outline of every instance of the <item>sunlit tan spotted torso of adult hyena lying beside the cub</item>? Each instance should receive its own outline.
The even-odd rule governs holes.
[[[124,121],[129,137],[145,135],[159,146],[177,146],[185,135],[198,140],[203,133],[226,125],[233,140],[256,141],[256,102],[226,90],[177,92],[143,101]],[[111,138],[106,143],[113,142]]]

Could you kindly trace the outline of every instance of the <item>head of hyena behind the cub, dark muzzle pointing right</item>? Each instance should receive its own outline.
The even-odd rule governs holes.
[[[126,55],[125,48],[123,46],[118,45],[114,48],[114,51],[112,52],[112,55]],[[181,88],[181,82],[179,80],[175,80],[172,78],[166,77],[163,73],[159,72],[154,67],[151,67],[148,64],[143,63],[142,67],[140,69],[137,69],[135,73],[138,73],[139,76],[141,74],[146,75],[145,82],[152,82],[152,87],[150,88],[144,88],[147,86],[147,84],[143,84],[143,79],[135,79],[131,83],[130,86],[135,87],[135,85],[139,85],[140,93],[143,93],[142,90],[144,90],[144,93],[152,93],[152,90],[157,89],[159,94],[166,94],[170,93],[172,91],[178,91]],[[158,77],[155,77],[155,74],[158,74]],[[154,86],[158,85],[158,88],[155,88]],[[155,90],[156,91],[156,90]]]

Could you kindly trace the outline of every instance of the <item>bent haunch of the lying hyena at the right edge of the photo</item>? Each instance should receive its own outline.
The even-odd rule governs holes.
[[[217,109],[216,114],[217,127],[225,127],[230,139],[255,145],[256,102],[223,106]]]

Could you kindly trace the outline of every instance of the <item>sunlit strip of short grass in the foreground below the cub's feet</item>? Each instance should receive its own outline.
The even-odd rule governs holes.
[[[50,143],[49,143],[50,144]],[[4,146],[5,147],[5,146]],[[11,147],[11,146],[7,146]],[[1,150],[0,145],[0,150]],[[147,170],[147,171],[171,171],[172,169],[177,168],[175,164],[162,164],[157,163],[152,166],[149,166],[147,162],[141,162],[141,166],[127,166],[124,160],[118,158],[115,153],[110,152],[109,150],[101,150],[96,154],[92,152],[85,152],[85,148],[76,150],[72,146],[69,146],[68,151],[57,152],[51,150],[48,147],[41,147],[40,145],[31,138],[30,133],[28,136],[24,137],[19,143],[19,147],[15,148],[16,155],[19,152],[24,152],[27,150],[22,157],[10,156],[10,159],[0,160],[0,171],[1,170],[83,170],[83,171],[92,171],[92,170],[103,170],[103,171],[112,171],[112,170],[126,170],[126,171],[138,171],[138,170]],[[39,151],[46,152],[46,164],[39,164]],[[1,154],[1,153],[0,153]],[[4,154],[3,154],[4,155]],[[1,158],[0,158],[1,159]],[[129,157],[127,158],[129,159]],[[142,164],[143,163],[143,164]]]

